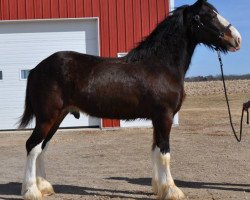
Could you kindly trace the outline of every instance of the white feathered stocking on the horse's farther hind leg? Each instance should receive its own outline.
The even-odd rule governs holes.
[[[36,184],[43,196],[50,196],[55,193],[52,185],[46,180],[44,156],[48,146],[49,143],[46,144],[36,160]]]

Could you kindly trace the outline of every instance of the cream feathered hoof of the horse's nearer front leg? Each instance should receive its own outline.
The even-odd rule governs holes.
[[[185,200],[185,194],[176,185],[165,185],[158,194],[160,200]]]

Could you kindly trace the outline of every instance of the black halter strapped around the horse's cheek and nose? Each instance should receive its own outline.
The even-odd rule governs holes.
[[[200,15],[195,15],[193,17],[195,24],[197,26],[198,29],[203,29],[205,31],[209,31],[210,33],[216,35],[219,39],[223,39],[225,36],[226,31],[228,31],[230,29],[230,27],[232,26],[232,24],[229,24],[227,27],[225,27],[225,29],[223,31],[218,31],[215,29],[212,29],[210,27],[205,26],[200,19]]]

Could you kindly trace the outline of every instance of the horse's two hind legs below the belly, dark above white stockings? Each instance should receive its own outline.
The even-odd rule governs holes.
[[[44,153],[49,140],[65,116],[66,113],[54,120],[37,122],[32,135],[26,142],[28,155],[22,184],[22,195],[25,200],[40,200],[42,196],[54,193],[53,187],[45,179]]]

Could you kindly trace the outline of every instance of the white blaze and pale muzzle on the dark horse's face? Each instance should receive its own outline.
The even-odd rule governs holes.
[[[217,13],[216,11],[214,11],[214,13],[217,15],[217,19],[219,20],[219,22],[223,26],[225,26],[225,28],[230,25],[230,23],[224,17],[222,17],[219,13]],[[229,50],[237,51],[240,49],[240,46],[241,46],[241,41],[242,41],[241,35],[239,31],[233,26],[230,26],[229,30],[231,31],[231,34],[232,34],[232,40],[230,41],[232,47]]]

